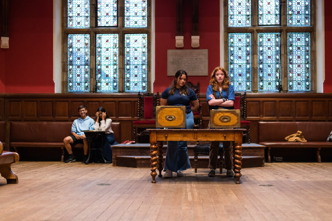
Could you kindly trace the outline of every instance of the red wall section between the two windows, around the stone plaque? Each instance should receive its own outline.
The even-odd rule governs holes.
[[[176,36],[176,1],[155,1],[155,81],[153,92],[162,92],[170,85],[174,76],[167,76],[167,49],[175,47]],[[192,49],[192,1],[183,1],[184,11],[184,47]],[[200,82],[200,92],[206,92],[209,74],[219,66],[219,1],[199,1],[199,35],[200,47],[208,49],[208,76],[188,76],[188,81],[196,84]],[[181,50],[181,49],[178,49]]]

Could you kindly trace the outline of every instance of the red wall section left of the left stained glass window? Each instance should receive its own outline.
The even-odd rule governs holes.
[[[6,93],[54,93],[53,1],[9,1],[8,23]]]

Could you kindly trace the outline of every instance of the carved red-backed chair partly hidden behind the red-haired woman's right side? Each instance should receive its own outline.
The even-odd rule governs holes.
[[[246,120],[246,92],[244,92],[243,94],[235,93],[234,108],[240,110],[240,127],[247,129],[247,131],[244,132],[243,136],[245,137],[245,140],[250,143],[250,121]]]

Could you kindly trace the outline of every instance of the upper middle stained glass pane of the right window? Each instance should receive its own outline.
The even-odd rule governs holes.
[[[280,25],[280,1],[258,1],[258,25]]]

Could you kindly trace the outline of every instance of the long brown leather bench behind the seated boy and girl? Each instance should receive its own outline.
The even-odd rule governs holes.
[[[72,122],[10,122],[10,147],[17,152],[17,147],[58,147],[62,150],[63,139],[71,135]],[[120,122],[112,122],[116,141],[120,141]],[[72,145],[83,148],[83,144]]]

